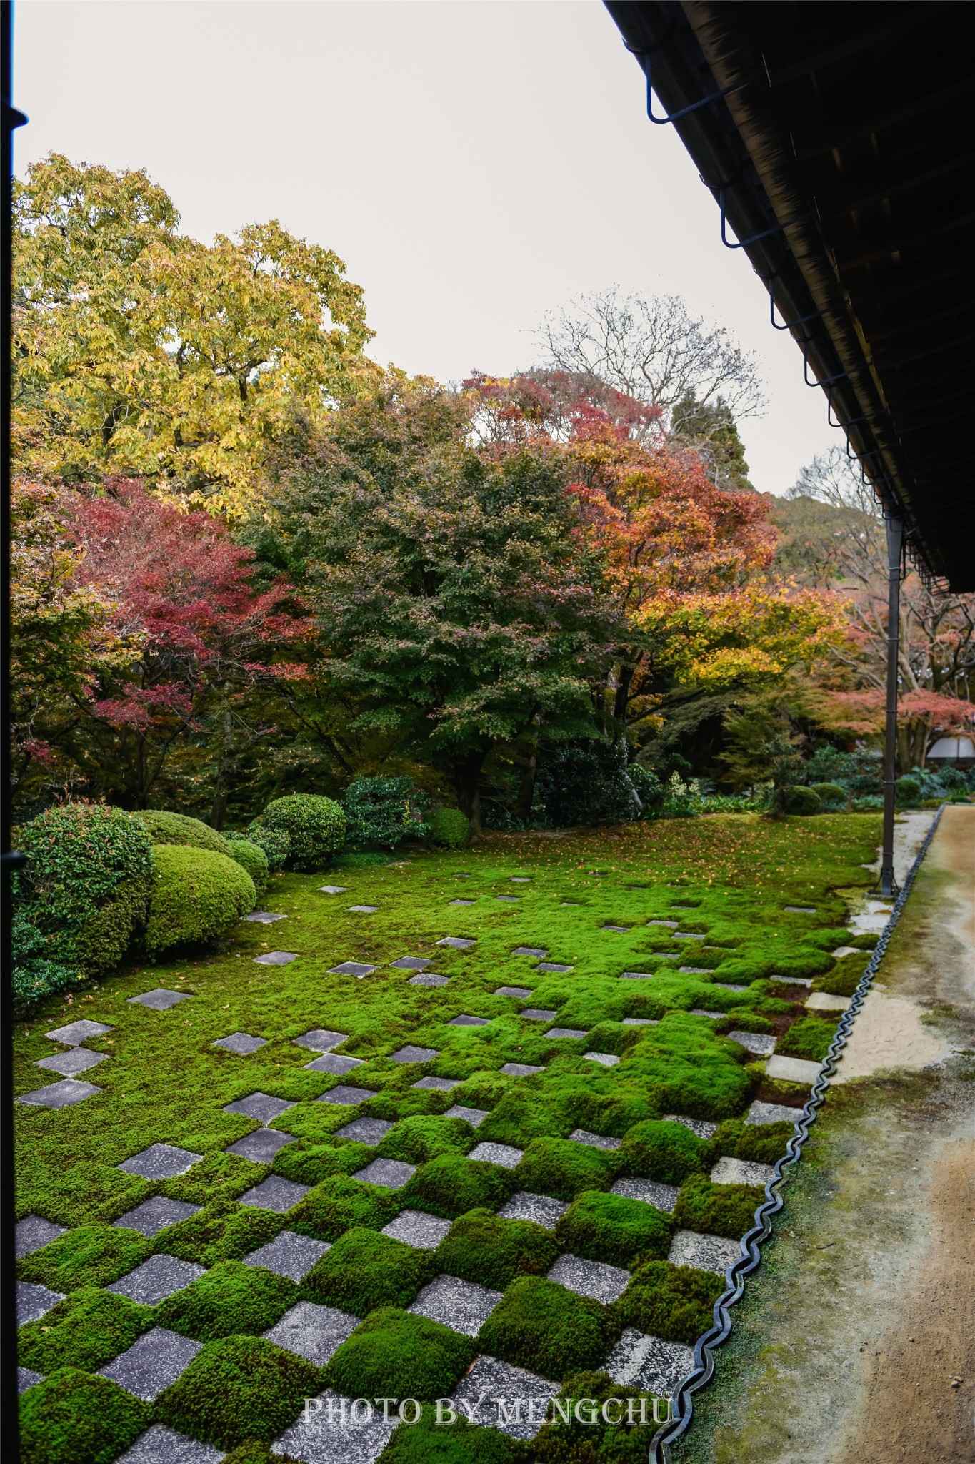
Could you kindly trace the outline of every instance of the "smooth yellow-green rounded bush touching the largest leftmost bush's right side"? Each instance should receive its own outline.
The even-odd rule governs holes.
[[[145,933],[149,956],[216,940],[257,903],[247,870],[224,854],[175,843],[159,843],[153,854],[156,881]]]

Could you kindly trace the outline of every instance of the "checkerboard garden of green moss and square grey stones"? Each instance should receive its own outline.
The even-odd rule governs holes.
[[[18,1035],[25,1464],[645,1458],[626,1404],[548,1401],[639,1419],[690,1369],[807,1097],[741,1039],[823,1057],[804,1001],[862,968],[838,892],[877,836],[715,815],[276,874],[279,922],[47,997]]]

